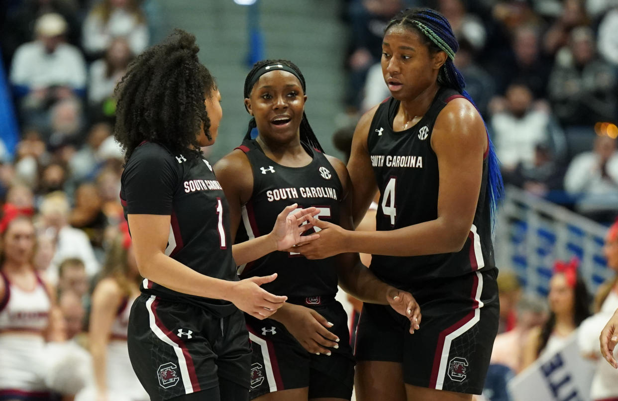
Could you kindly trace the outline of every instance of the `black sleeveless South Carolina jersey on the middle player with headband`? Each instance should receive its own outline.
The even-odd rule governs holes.
[[[239,149],[245,152],[252,166],[253,193],[242,206],[236,242],[268,234],[277,215],[293,203],[298,203],[298,208],[315,206],[320,209],[318,218],[339,224],[342,185],[324,154],[305,146],[313,158],[311,163],[304,167],[287,167],[269,159],[255,140],[244,141]],[[263,289],[275,295],[305,298],[337,292],[334,263],[334,257],[307,260],[299,254],[274,251],[239,266],[238,272],[242,279],[276,272],[277,279],[262,285]]]

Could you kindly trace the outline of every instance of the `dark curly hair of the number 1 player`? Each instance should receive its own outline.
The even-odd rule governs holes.
[[[216,82],[198,61],[198,51],[195,36],[176,29],[129,64],[115,91],[114,137],[126,151],[125,161],[143,141],[200,154],[196,134],[202,124],[211,139],[204,102]]]

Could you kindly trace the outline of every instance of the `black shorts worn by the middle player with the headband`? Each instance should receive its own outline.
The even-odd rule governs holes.
[[[245,314],[253,357],[250,399],[269,392],[309,387],[309,398],[352,397],[354,360],[349,345],[347,315],[339,302],[330,298],[321,305],[310,306],[334,325],[329,329],[339,337],[339,348],[329,348],[331,356],[315,355],[305,348],[287,329],[273,319],[258,320]],[[296,302],[295,302],[296,303]]]

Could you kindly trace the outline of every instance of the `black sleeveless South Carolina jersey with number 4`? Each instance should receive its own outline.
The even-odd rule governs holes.
[[[438,217],[438,158],[431,148],[431,133],[439,112],[458,97],[463,96],[441,88],[425,116],[410,129],[400,132],[392,129],[398,100],[389,98],[376,110],[367,139],[380,191],[376,229],[394,230]],[[478,204],[462,250],[410,257],[373,255],[371,270],[393,285],[408,285],[494,268],[487,182],[485,155]]]

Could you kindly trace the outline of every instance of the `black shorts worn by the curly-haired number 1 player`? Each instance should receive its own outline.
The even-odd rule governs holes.
[[[219,378],[248,391],[251,348],[242,311],[218,318],[196,305],[142,294],[131,308],[127,341],[151,400],[211,389]]]

